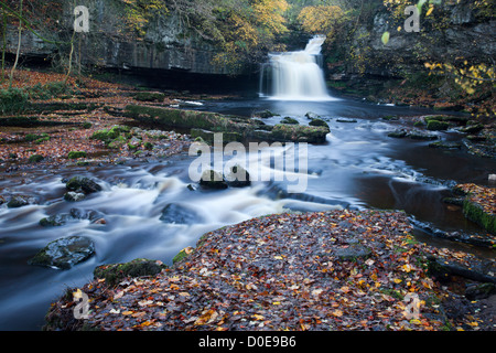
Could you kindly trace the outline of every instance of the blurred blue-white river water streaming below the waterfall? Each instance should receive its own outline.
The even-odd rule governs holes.
[[[397,208],[441,228],[478,231],[460,210],[443,204],[442,199],[455,182],[486,184],[487,175],[496,173],[495,162],[460,150],[430,149],[423,141],[387,137],[399,122],[387,122],[381,117],[423,115],[428,114],[425,109],[353,100],[246,100],[211,103],[201,109],[247,116],[270,109],[280,115],[266,119],[267,124],[290,116],[306,125],[308,111],[321,115],[331,133],[326,143],[309,146],[306,191],[291,194],[284,181],[273,180],[255,181],[242,189],[192,191],[187,188],[192,183],[187,169],[193,158],[188,156],[6,175],[0,189],[32,195],[36,204],[15,210],[0,207],[0,330],[37,330],[50,302],[66,287],[90,280],[98,265],[137,257],[170,264],[179,250],[194,246],[204,233],[263,214],[285,210]],[[337,118],[343,117],[356,122],[338,122]],[[460,138],[455,132],[448,133],[451,139]],[[104,191],[77,203],[63,201],[62,180],[75,174],[95,179]],[[197,221],[190,225],[165,224],[160,220],[161,213],[171,203],[187,206]],[[74,207],[101,212],[106,224],[83,220],[61,227],[39,225],[41,218],[68,213]],[[68,235],[91,238],[96,255],[66,271],[26,265],[48,242]]]

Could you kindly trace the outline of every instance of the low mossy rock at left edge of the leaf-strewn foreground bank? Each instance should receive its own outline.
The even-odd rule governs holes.
[[[127,277],[155,276],[168,268],[158,260],[137,258],[129,263],[100,265],[93,271],[95,278],[105,279],[109,286],[119,284]]]

